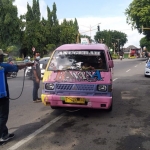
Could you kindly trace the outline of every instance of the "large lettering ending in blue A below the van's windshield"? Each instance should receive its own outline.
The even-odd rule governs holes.
[[[103,81],[101,73],[99,70],[96,71],[61,71],[58,72],[55,78],[55,81],[61,82],[81,82],[81,81],[88,81],[88,82],[96,82],[96,81]]]

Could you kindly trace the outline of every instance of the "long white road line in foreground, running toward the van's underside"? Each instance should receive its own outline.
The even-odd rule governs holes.
[[[49,126],[51,126],[52,124],[54,124],[55,122],[57,122],[58,120],[60,120],[62,117],[63,117],[63,114],[60,115],[60,116],[58,116],[58,117],[56,117],[55,119],[51,120],[46,125],[44,125],[43,127],[39,128],[34,133],[30,134],[29,136],[27,136],[23,140],[19,141],[18,143],[16,143],[14,146],[8,148],[7,150],[16,150],[17,148],[19,148],[20,146],[22,146],[23,144],[25,144],[26,142],[28,142],[29,140],[31,140],[32,138],[34,138],[37,134],[41,133],[46,128],[48,128]]]

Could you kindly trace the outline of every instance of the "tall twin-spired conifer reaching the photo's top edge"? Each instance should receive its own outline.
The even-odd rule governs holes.
[[[39,51],[41,55],[43,54],[43,32],[41,24],[41,13],[39,7],[39,0],[33,0],[32,7],[27,3],[27,13],[26,18],[26,29],[25,29],[25,41],[26,47],[29,54],[32,53],[32,47],[36,48],[36,51]]]

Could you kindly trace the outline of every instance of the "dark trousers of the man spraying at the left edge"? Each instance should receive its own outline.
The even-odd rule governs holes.
[[[8,135],[8,128],[6,126],[9,115],[9,99],[0,99],[0,138]]]

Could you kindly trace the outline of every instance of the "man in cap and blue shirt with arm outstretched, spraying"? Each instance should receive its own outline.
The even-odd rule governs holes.
[[[0,49],[0,67],[4,68],[5,85],[7,92],[7,97],[0,98],[0,145],[2,145],[3,143],[7,142],[8,140],[14,137],[13,133],[12,134],[8,133],[8,128],[6,126],[9,115],[9,87],[7,83],[7,73],[18,72],[18,70],[20,69],[33,65],[33,63],[26,63],[20,65],[11,65],[8,63],[3,63],[4,56],[7,56],[7,54],[5,54],[2,49]]]

